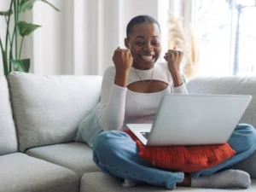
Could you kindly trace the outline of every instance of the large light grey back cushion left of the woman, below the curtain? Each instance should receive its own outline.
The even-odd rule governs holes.
[[[9,87],[19,149],[72,142],[100,100],[101,76],[11,73]]]

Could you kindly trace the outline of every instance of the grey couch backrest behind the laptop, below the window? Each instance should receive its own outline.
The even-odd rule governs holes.
[[[256,77],[197,77],[187,83],[189,94],[227,94],[253,96],[240,123],[256,128]]]

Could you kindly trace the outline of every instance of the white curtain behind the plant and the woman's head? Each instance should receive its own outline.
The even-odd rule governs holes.
[[[0,10],[8,9],[9,0],[0,2]],[[42,25],[25,38],[22,58],[32,59],[32,73],[102,75],[106,67],[113,65],[113,50],[124,47],[126,25],[136,15],[152,15],[160,21],[166,48],[169,0],[49,0],[49,3],[61,12],[38,1],[32,11],[21,16],[22,20]],[[0,20],[1,26],[3,21]]]

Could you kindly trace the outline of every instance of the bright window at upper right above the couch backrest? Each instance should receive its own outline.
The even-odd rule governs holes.
[[[200,75],[256,75],[256,0],[195,0]]]

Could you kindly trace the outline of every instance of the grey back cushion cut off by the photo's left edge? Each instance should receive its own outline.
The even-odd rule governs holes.
[[[0,76],[0,155],[15,153],[18,143],[15,122],[9,102],[7,80]]]

